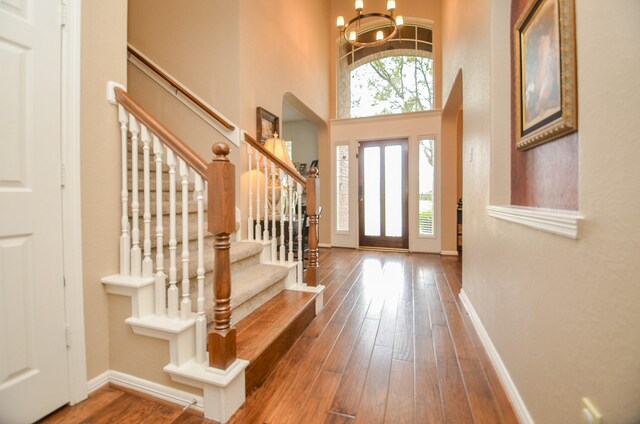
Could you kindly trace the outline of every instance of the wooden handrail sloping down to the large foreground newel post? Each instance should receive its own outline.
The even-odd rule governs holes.
[[[200,155],[198,155],[191,147],[182,141],[171,130],[162,125],[153,117],[145,108],[140,106],[129,94],[121,88],[116,88],[116,99],[126,110],[132,113],[138,121],[151,130],[153,134],[158,136],[174,153],[193,168],[198,174],[207,178],[208,163]]]

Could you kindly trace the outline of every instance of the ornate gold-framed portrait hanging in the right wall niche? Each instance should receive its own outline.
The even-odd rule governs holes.
[[[532,0],[514,27],[516,147],[578,129],[574,0]]]

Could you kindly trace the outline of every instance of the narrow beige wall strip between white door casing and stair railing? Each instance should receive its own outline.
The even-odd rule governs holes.
[[[107,295],[119,270],[120,133],[107,81],[127,82],[127,1],[82,2],[82,244],[87,377],[109,369]]]

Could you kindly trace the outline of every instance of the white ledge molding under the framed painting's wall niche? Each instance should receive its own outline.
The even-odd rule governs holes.
[[[582,215],[577,211],[530,208],[524,206],[487,206],[489,216],[514,222],[559,236],[577,239]]]

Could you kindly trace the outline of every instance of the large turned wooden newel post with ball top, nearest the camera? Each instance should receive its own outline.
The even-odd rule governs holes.
[[[209,333],[209,365],[227,369],[236,360],[236,329],[231,326],[231,262],[229,248],[235,231],[235,166],[229,146],[213,146],[215,157],[207,170],[209,232],[215,237],[214,329]]]

